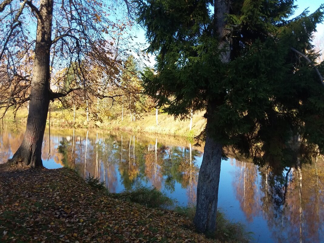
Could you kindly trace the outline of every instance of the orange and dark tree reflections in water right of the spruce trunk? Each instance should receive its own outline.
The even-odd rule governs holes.
[[[311,165],[296,163],[279,175],[252,163],[236,161],[236,166],[233,184],[248,222],[263,216],[274,242],[324,241],[323,158]]]

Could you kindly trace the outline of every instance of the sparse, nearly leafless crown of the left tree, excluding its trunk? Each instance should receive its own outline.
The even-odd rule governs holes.
[[[44,2],[0,3],[1,107],[18,108],[30,99],[36,29],[49,17],[52,18],[50,88],[58,92],[51,98],[80,89],[84,96],[103,98],[110,96],[107,84],[119,85],[122,61],[127,58],[132,45],[129,39],[133,37],[133,22],[127,17],[125,2],[48,2],[46,5],[52,5],[49,16],[40,12]],[[100,76],[100,80],[92,78],[94,75]],[[101,82],[103,77],[105,80]]]

